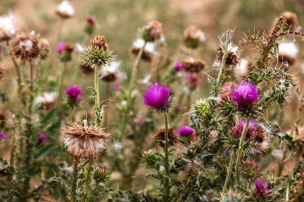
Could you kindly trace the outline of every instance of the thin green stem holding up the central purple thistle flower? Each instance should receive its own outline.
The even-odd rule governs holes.
[[[169,155],[168,155],[168,116],[167,112],[165,112],[165,169],[166,169],[166,181],[165,181],[165,198],[166,201],[169,201],[169,177],[170,177],[170,172],[169,172]]]

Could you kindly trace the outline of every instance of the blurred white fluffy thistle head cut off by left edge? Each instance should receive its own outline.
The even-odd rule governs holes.
[[[12,14],[0,16],[0,42],[9,41],[17,32]]]

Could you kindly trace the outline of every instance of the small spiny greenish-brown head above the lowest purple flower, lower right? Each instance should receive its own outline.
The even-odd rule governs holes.
[[[253,180],[259,175],[260,166],[253,160],[242,161],[240,163],[240,173],[245,179]]]

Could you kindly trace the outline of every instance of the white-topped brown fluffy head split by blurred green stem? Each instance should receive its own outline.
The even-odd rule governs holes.
[[[130,48],[130,53],[131,55],[137,57],[140,48],[144,45],[144,40],[142,38],[138,38],[136,40],[133,41],[133,46]],[[143,62],[147,62],[147,63],[151,63],[153,61],[153,57],[154,55],[156,55],[156,51],[155,51],[155,44],[148,42],[146,43],[146,45],[144,46],[142,55],[141,55],[141,60]]]

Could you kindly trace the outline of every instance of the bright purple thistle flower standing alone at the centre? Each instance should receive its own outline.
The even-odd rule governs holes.
[[[155,82],[147,86],[145,92],[142,92],[142,101],[145,106],[158,112],[164,112],[171,104],[170,88]]]

